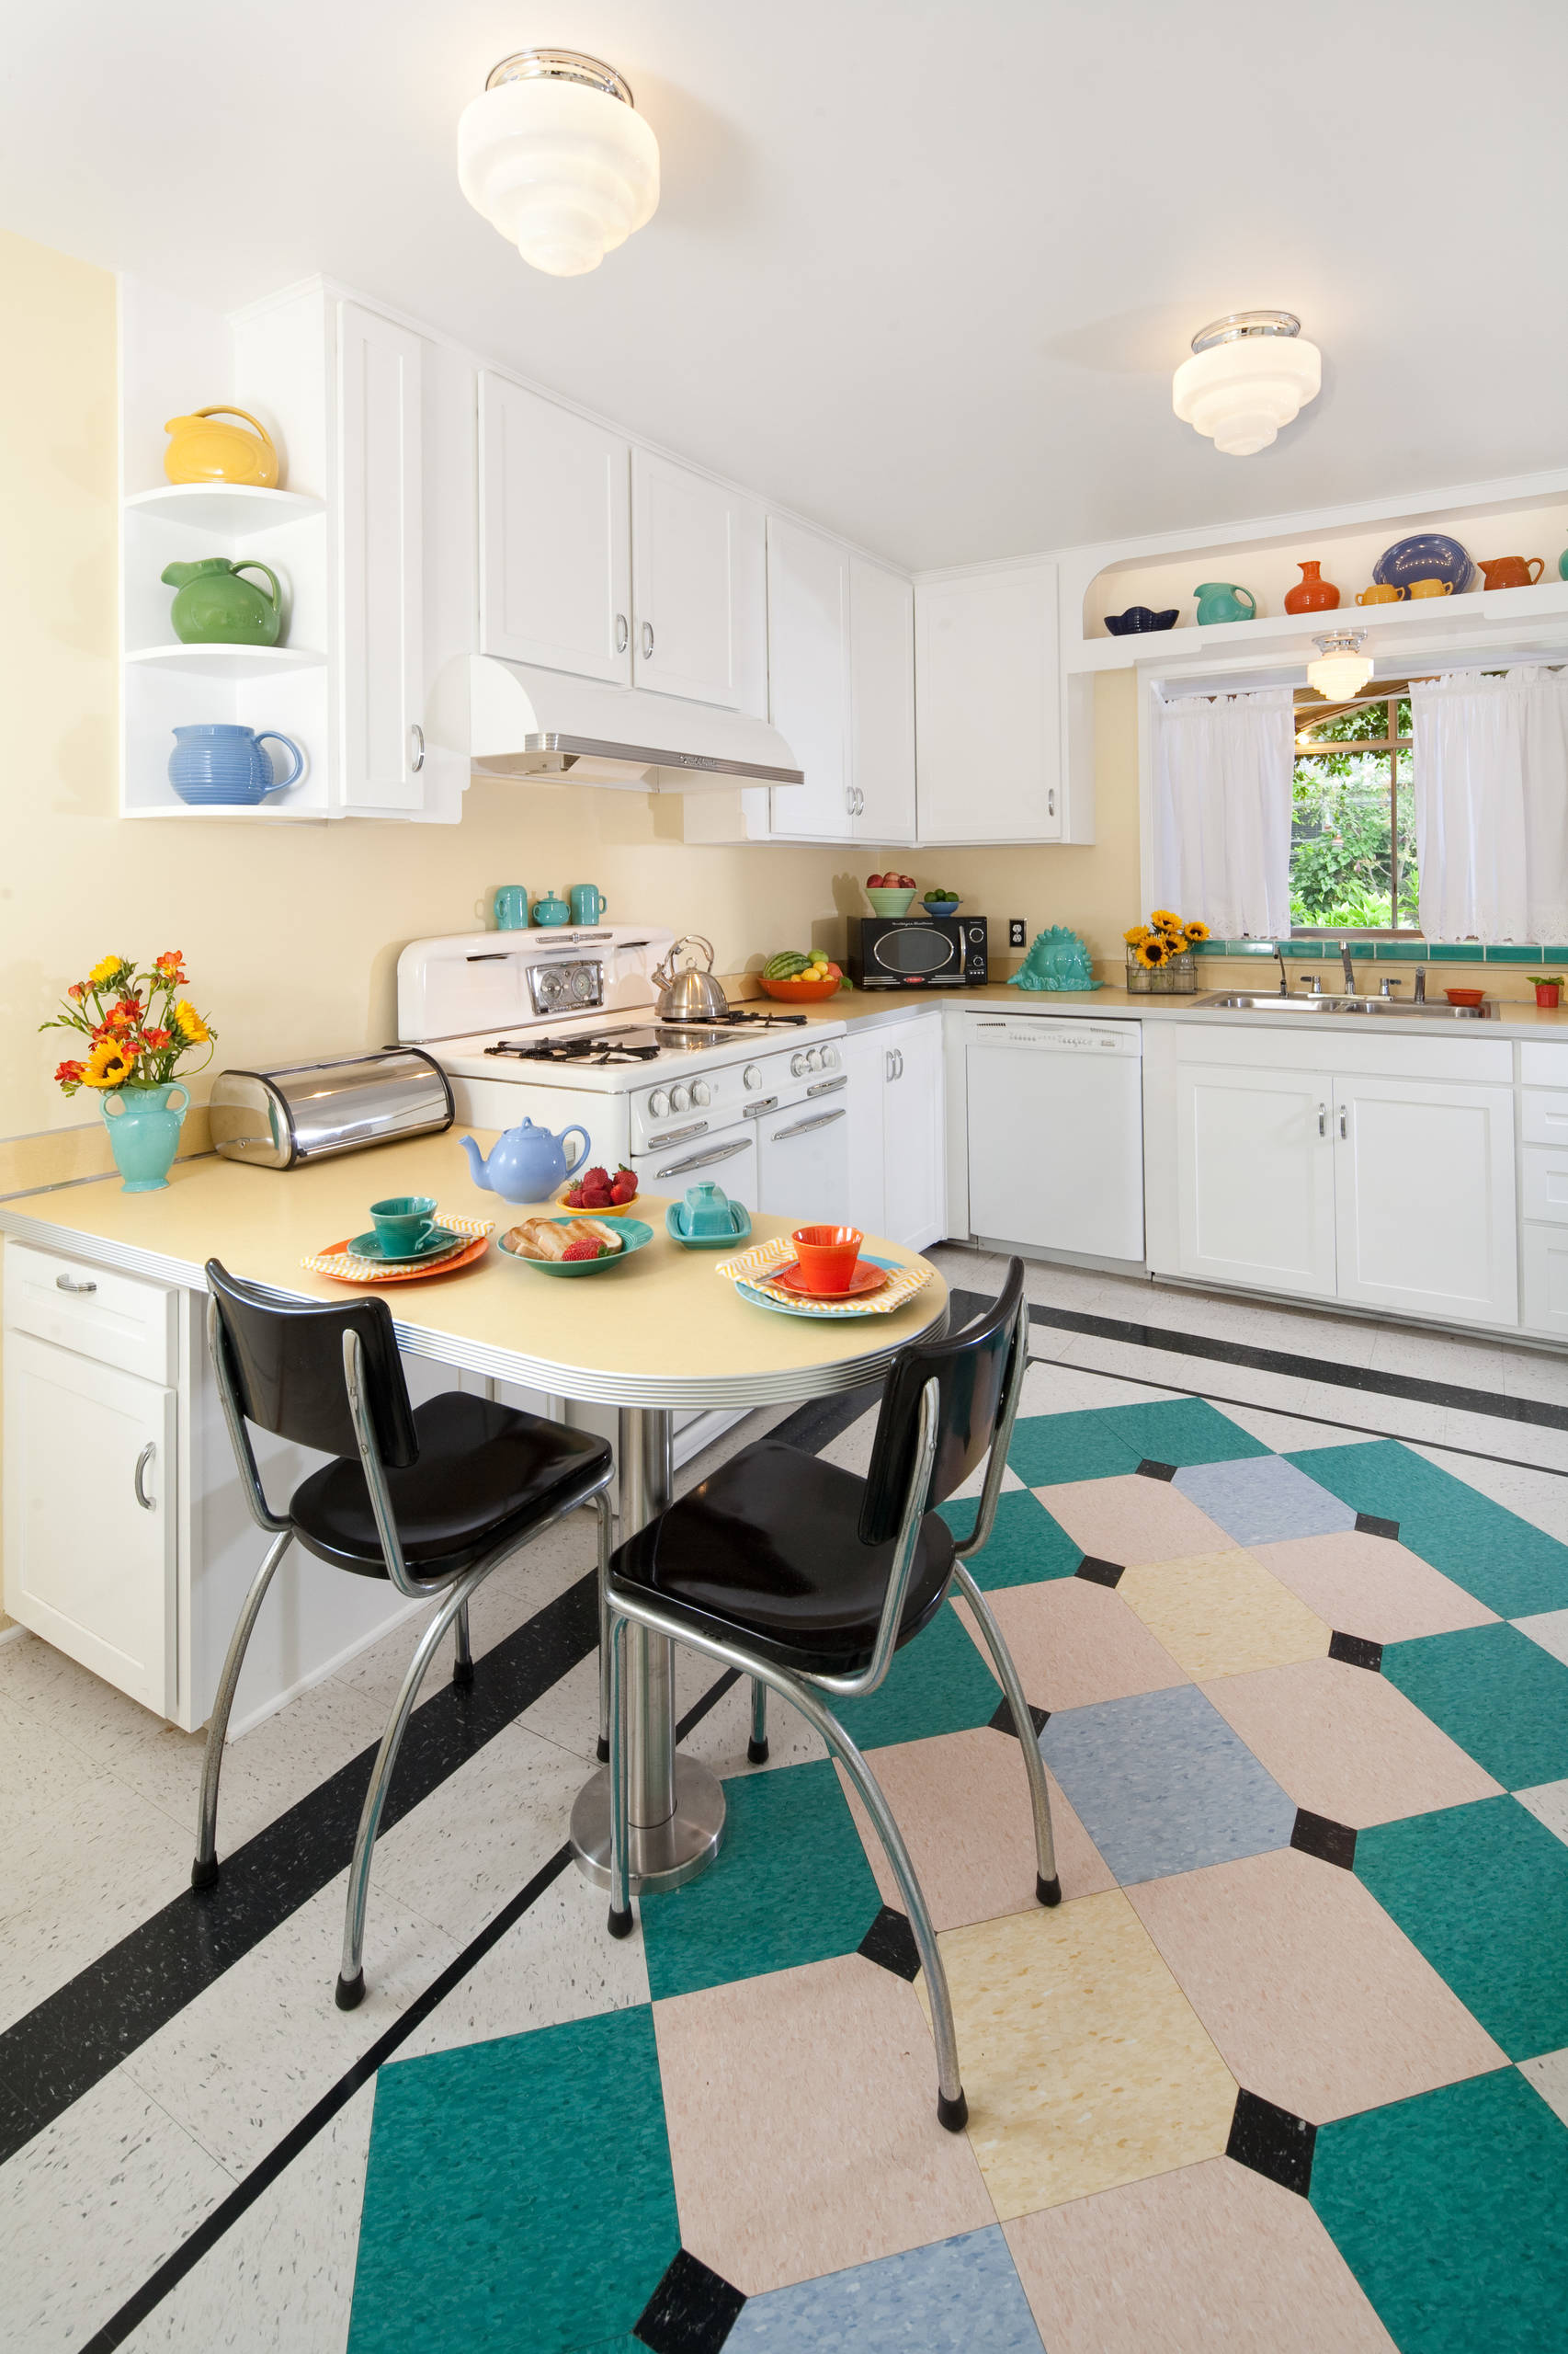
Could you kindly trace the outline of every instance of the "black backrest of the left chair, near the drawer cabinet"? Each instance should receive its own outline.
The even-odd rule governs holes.
[[[231,1276],[217,1259],[207,1259],[207,1290],[217,1299],[228,1379],[247,1422],[301,1448],[358,1462],[344,1384],[344,1332],[358,1332],[381,1462],[403,1471],[419,1459],[414,1410],[384,1299],[346,1299],[344,1306],[278,1299],[259,1283]]]

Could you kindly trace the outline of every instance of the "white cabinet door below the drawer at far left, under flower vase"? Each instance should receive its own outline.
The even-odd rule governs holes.
[[[174,1714],[174,1429],[160,1382],[7,1330],[5,1608],[160,1716]]]

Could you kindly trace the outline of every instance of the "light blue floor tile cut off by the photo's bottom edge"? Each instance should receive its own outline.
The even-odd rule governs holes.
[[[725,2354],[1041,2354],[1001,2225],[749,2298]]]

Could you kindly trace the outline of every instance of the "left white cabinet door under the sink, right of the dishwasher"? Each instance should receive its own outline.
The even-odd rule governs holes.
[[[1333,1080],[1177,1066],[1177,1264],[1274,1292],[1335,1288]],[[1170,1184],[1149,1163],[1147,1182]]]

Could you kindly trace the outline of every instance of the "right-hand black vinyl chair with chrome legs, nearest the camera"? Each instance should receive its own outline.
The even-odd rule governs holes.
[[[690,1643],[753,1678],[751,1756],[768,1754],[768,1693],[782,1693],[845,1768],[904,1895],[937,2043],[937,2116],[958,2133],[954,2006],[909,1850],[864,1756],[824,1695],[873,1693],[895,1650],[942,1610],[949,1589],[984,1636],[1024,1751],[1034,1806],[1036,1897],[1062,1902],[1050,1796],[1034,1716],[1001,1627],[965,1568],[996,1521],[1008,1441],[1029,1363],[1024,1264],[963,1332],[916,1342],[888,1375],[866,1478],[779,1441],[742,1448],[711,1478],[622,1544],[605,1582],[610,1648],[610,1933],[631,1930],[626,1841],[626,1624]],[[975,1528],[954,1540],[935,1504],[986,1459]]]

